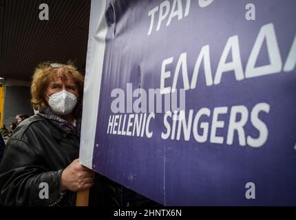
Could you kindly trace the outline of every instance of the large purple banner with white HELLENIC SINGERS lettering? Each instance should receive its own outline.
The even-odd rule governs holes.
[[[92,1],[82,164],[166,206],[295,206],[295,7]]]

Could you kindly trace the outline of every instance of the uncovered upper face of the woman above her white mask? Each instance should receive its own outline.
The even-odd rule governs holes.
[[[69,91],[75,96],[78,96],[77,85],[76,83],[74,83],[72,77],[69,76],[65,80],[63,80],[63,78],[61,78],[61,69],[59,69],[48,84],[46,94],[48,96],[52,96],[52,94],[56,94],[57,92],[62,90]],[[45,96],[47,103],[49,100],[48,96]]]

